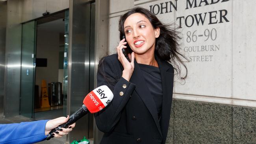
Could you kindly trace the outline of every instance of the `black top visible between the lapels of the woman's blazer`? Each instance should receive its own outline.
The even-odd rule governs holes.
[[[139,64],[139,67],[143,72],[143,76],[147,82],[147,87],[153,96],[154,102],[156,103],[158,119],[159,119],[161,116],[162,99],[163,99],[160,70],[158,67],[151,66],[151,65]]]

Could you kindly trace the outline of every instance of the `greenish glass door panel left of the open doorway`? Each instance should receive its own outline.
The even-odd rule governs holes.
[[[20,115],[33,117],[36,22],[22,24]]]

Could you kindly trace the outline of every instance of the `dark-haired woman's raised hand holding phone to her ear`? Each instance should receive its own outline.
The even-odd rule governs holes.
[[[132,73],[134,72],[134,52],[132,52],[132,54],[128,54],[128,57],[131,60],[131,62],[129,62],[124,56],[124,54],[122,53],[122,48],[126,48],[124,44],[127,43],[124,41],[125,39],[122,39],[119,42],[119,45],[117,46],[117,54],[118,54],[118,60],[121,62],[122,66],[124,67],[124,70],[122,71],[122,77],[127,81],[130,81],[130,78],[132,77]]]

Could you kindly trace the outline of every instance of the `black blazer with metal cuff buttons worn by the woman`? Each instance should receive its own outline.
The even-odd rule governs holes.
[[[156,105],[145,84],[141,69],[134,61],[130,81],[122,78],[123,67],[117,54],[104,57],[99,66],[97,85],[107,85],[113,92],[112,102],[95,113],[98,129],[104,132],[100,144],[164,144],[169,127],[173,98],[173,66],[156,57],[160,68],[163,102],[158,120]]]

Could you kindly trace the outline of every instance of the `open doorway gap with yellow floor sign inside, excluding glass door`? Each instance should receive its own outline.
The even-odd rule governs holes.
[[[67,114],[67,75],[64,76],[67,66],[64,69],[64,57],[67,58],[68,29],[65,28],[68,26],[65,25],[68,24],[68,10],[37,20],[35,119]]]

